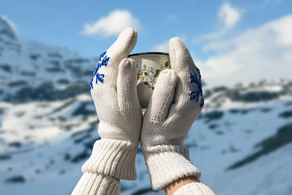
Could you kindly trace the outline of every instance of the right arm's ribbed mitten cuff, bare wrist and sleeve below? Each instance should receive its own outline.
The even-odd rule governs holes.
[[[153,190],[164,189],[166,195],[215,195],[199,181],[201,172],[190,161],[187,148],[160,145],[143,152]]]

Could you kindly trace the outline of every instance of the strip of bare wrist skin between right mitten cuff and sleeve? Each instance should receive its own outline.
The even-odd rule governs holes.
[[[182,186],[194,182],[200,183],[200,180],[195,176],[183,177],[165,186],[164,192],[166,195],[173,195],[173,193],[175,193]]]

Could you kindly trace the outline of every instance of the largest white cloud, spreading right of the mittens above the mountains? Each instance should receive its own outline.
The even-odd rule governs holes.
[[[205,46],[218,55],[195,61],[210,85],[291,78],[292,15]],[[222,50],[225,50],[222,53]]]

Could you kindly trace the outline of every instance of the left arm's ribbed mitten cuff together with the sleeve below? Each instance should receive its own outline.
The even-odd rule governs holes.
[[[119,195],[120,179],[136,178],[135,148],[118,140],[96,141],[72,195]]]

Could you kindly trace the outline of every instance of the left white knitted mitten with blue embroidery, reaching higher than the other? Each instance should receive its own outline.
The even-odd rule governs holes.
[[[73,194],[93,195],[94,189],[86,193],[80,189],[90,189],[89,185],[99,175],[126,180],[137,178],[135,156],[142,111],[137,96],[136,62],[127,59],[136,42],[137,32],[126,28],[97,62],[90,86],[100,120],[101,139],[94,143],[90,158],[82,166],[84,175],[79,181],[82,185],[78,183]]]

